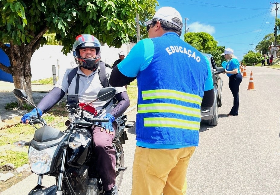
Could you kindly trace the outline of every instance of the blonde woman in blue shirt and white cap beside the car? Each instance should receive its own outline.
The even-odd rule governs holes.
[[[227,60],[226,70],[227,76],[230,78],[228,86],[233,95],[233,107],[230,110],[230,113],[227,116],[237,116],[239,108],[239,85],[242,81],[242,75],[240,74],[239,61],[236,59],[236,56],[233,55],[233,50],[230,48],[225,49],[224,53],[221,54]]]

